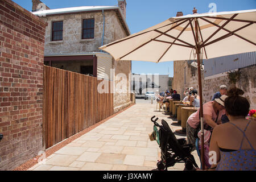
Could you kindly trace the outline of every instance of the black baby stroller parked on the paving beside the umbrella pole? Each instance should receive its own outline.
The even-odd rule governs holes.
[[[177,139],[164,119],[162,119],[162,125],[159,125],[156,122],[158,118],[155,120],[153,118],[155,115],[151,118],[151,121],[154,122],[151,139],[154,138],[161,149],[161,161],[157,163],[157,169],[154,170],[167,171],[167,168],[174,166],[175,163],[185,163],[184,170],[197,168],[195,158],[191,154],[192,145],[187,144],[185,138]]]

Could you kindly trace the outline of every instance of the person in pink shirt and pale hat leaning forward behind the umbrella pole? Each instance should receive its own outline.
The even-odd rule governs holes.
[[[221,116],[225,114],[224,101],[228,96],[221,96],[214,101],[209,101],[203,105],[204,129],[212,130],[215,126],[221,124]],[[200,128],[200,109],[191,114],[187,120],[187,143],[193,145],[195,150],[195,142],[197,130]]]

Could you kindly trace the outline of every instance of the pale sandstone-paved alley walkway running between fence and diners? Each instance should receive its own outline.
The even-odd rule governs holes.
[[[138,101],[136,105],[102,123],[100,126],[73,140],[46,159],[46,164],[36,164],[28,170],[152,170],[159,159],[159,146],[150,141],[156,115],[166,119],[168,115],[155,111],[155,101]],[[179,129],[170,125],[174,131]],[[177,136],[177,138],[179,138]],[[197,164],[199,158],[194,151]],[[169,170],[183,170],[184,163],[176,163]]]

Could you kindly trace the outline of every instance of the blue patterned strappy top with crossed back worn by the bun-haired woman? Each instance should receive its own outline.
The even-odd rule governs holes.
[[[230,122],[229,122],[230,123]],[[249,121],[250,123],[250,121]],[[247,124],[247,126],[249,125]],[[234,125],[234,123],[230,123]],[[234,125],[236,126],[236,125]],[[245,127],[245,130],[242,131],[239,127],[239,129],[243,133],[243,139],[246,138],[245,131],[247,129],[247,126]],[[251,143],[247,139],[248,143],[250,144],[251,150],[242,150],[242,143],[239,150],[229,150],[229,149],[222,149],[220,148],[220,155],[221,159],[220,162],[217,164],[216,171],[255,171],[256,170],[256,157],[255,157],[255,149],[253,146],[251,146]]]

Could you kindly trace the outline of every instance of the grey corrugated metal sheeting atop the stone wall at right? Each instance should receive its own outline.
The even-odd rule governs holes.
[[[204,77],[254,64],[256,64],[256,52],[246,52],[204,60]]]

